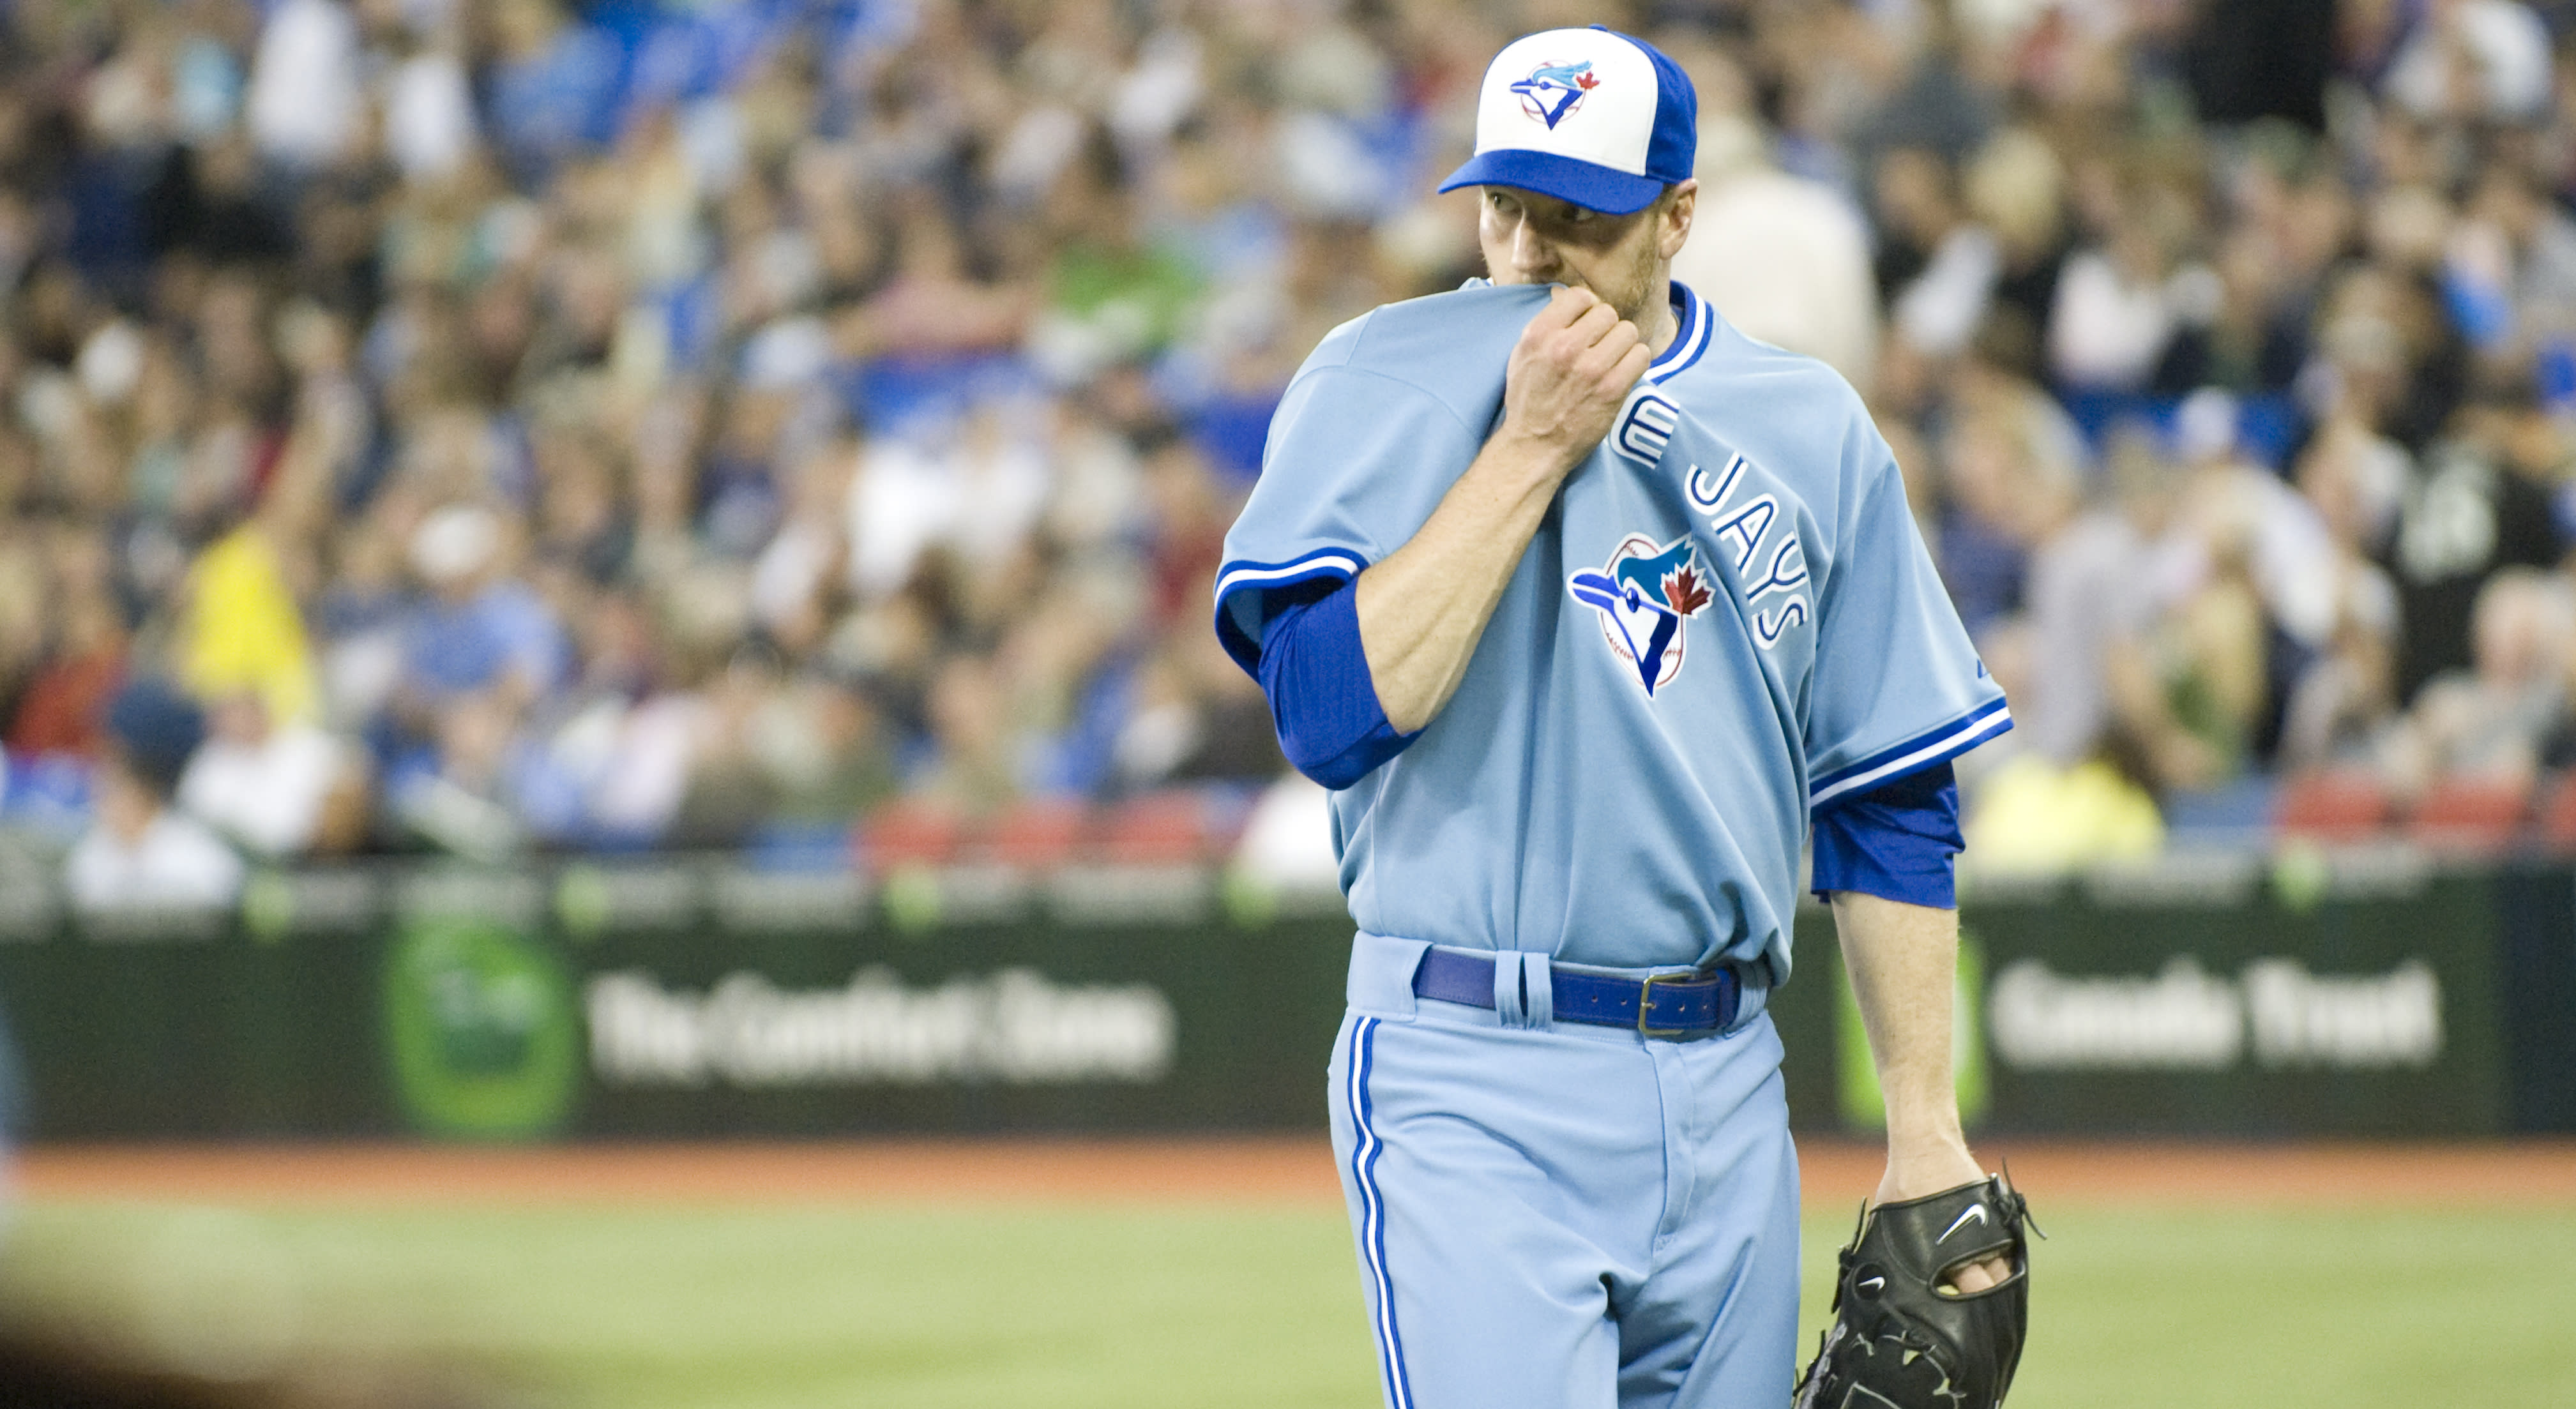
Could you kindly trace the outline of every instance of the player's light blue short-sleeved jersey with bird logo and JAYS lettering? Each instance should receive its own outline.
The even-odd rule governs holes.
[[[1226,536],[1216,616],[1239,662],[1267,616],[1422,528],[1546,299],[1468,286],[1314,350]],[[1674,312],[1448,708],[1332,796],[1368,932],[1785,979],[1808,809],[2009,729],[1852,389],[1680,283]]]

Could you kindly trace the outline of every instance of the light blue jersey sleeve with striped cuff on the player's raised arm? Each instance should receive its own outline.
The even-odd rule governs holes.
[[[1484,443],[1448,402],[1383,371],[1309,366],[1226,533],[1216,636],[1260,675],[1265,626],[1401,549]]]

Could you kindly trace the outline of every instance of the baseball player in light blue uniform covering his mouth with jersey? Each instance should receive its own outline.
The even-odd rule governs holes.
[[[1638,39],[1510,44],[1443,185],[1489,281],[1334,330],[1226,538],[1218,636],[1334,788],[1332,1136],[1396,1409],[1790,1396],[1765,997],[1811,822],[1888,1100],[1873,1218],[1958,1211],[1922,1293],[2020,1347],[2020,1206],[1950,1084],[1950,760],[2009,714],[1852,389],[1669,278],[1692,129]]]

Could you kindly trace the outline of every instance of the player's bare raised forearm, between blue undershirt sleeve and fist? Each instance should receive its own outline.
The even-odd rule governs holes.
[[[1564,474],[1551,451],[1497,435],[1412,541],[1360,574],[1360,649],[1396,732],[1430,724],[1466,680]]]

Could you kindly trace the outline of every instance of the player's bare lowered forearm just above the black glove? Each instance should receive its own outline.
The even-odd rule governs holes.
[[[1888,1105],[1888,1159],[1947,1159],[1965,1146],[1950,1069],[1958,912],[1837,891],[1834,932]]]

